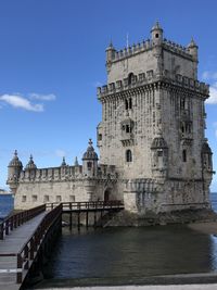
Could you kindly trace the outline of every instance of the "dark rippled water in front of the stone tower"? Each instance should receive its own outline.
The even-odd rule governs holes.
[[[217,194],[212,194],[212,200],[217,211]],[[51,287],[63,279],[72,283],[74,279],[110,283],[157,275],[214,272],[217,272],[217,237],[187,225],[81,229],[79,234],[63,228],[42,286]]]

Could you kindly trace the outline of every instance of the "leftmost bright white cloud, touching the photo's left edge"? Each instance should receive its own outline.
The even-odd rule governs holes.
[[[0,101],[8,103],[14,108],[21,108],[33,112],[43,112],[43,104],[34,104],[28,99],[20,94],[2,94],[0,96]]]

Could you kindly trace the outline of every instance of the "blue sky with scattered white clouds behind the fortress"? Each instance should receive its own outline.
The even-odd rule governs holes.
[[[150,37],[158,20],[166,38],[200,47],[199,79],[210,84],[206,136],[217,169],[217,33],[215,0],[0,0],[0,187],[17,149],[38,167],[81,157],[95,143],[105,84],[105,48]],[[212,185],[217,191],[217,177]]]

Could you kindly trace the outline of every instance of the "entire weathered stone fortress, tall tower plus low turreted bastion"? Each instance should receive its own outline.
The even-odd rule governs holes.
[[[82,165],[37,168],[15,153],[8,184],[15,207],[43,202],[124,200],[148,216],[210,207],[212,151],[205,139],[208,86],[197,80],[197,46],[151,39],[117,51],[106,49],[107,85],[98,88],[102,121],[100,157],[90,140]]]

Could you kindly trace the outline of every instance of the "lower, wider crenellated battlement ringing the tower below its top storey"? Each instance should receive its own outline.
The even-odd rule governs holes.
[[[130,85],[128,78],[124,78],[122,80],[117,80],[116,83],[111,83],[108,85],[98,87],[98,99],[100,100],[103,97],[129,90],[131,88],[149,85],[155,81],[170,83],[173,85],[184,87],[196,92],[205,93],[206,96],[208,96],[209,93],[209,86],[203,81],[194,80],[192,78],[179,74],[175,75],[175,78],[170,78],[168,72],[166,71],[164,71],[163,76],[157,76],[154,74],[153,71],[148,71],[146,73],[133,75]]]

